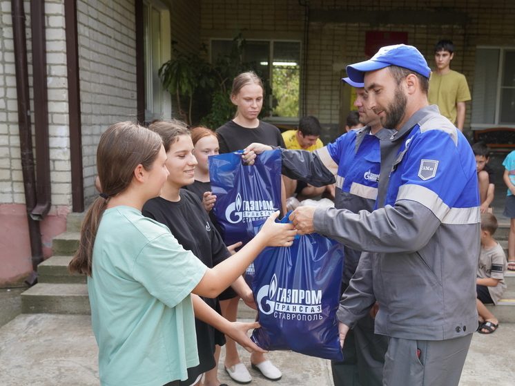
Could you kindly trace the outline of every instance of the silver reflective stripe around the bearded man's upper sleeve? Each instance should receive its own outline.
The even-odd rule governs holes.
[[[399,188],[397,200],[410,200],[425,206],[436,215],[442,224],[476,224],[480,222],[478,206],[471,208],[449,208],[431,189],[407,184]]]

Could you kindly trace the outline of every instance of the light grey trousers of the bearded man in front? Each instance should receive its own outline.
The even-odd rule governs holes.
[[[384,386],[458,386],[472,334],[448,340],[390,338]]]

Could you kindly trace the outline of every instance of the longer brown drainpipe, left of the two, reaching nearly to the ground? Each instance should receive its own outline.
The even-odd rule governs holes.
[[[21,150],[21,171],[27,208],[30,250],[32,252],[32,273],[26,280],[28,284],[37,282],[36,267],[43,261],[43,246],[39,222],[30,213],[36,206],[36,181],[34,155],[32,153],[32,131],[30,128],[30,98],[28,91],[27,41],[25,38],[25,11],[23,0],[11,0],[12,34],[14,38],[14,65],[16,68],[16,89],[18,98],[18,122]]]

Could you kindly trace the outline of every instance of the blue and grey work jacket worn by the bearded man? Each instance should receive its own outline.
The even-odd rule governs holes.
[[[480,250],[472,149],[436,106],[418,110],[391,144],[393,166],[381,170],[377,200],[384,207],[315,211],[318,233],[369,252],[338,319],[353,327],[378,300],[377,334],[420,340],[472,334]]]

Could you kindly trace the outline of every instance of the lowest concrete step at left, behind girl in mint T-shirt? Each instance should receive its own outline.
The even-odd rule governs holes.
[[[91,313],[86,284],[38,283],[21,293],[22,313]]]

